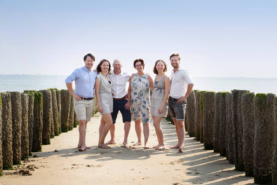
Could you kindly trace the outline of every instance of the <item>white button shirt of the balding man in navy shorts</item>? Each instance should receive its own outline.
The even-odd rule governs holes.
[[[119,75],[115,75],[114,71],[110,74],[112,81],[112,93],[114,98],[122,98],[127,94],[126,83],[130,79],[130,75],[127,72],[121,70]]]

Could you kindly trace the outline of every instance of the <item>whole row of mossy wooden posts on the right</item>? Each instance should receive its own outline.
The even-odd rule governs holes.
[[[167,120],[171,119],[170,115]],[[187,98],[189,137],[204,143],[258,184],[277,184],[277,96],[247,90],[194,90]]]

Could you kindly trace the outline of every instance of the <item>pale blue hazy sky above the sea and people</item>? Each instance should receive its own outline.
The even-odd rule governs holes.
[[[0,1],[0,74],[69,75],[87,53],[152,73],[277,78],[277,1]]]

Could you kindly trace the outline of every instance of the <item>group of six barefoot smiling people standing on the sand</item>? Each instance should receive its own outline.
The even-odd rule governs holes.
[[[96,70],[92,70],[95,57],[88,53],[84,56],[84,66],[75,69],[65,79],[68,91],[74,97],[74,109],[79,121],[79,151],[87,148],[85,142],[87,123],[90,121],[94,111],[94,92],[97,100],[98,112],[101,115],[99,126],[98,147],[110,148],[109,144],[115,143],[115,123],[117,114],[120,111],[124,123],[123,145],[128,145],[128,135],[131,127],[131,120],[135,122],[135,132],[138,142],[134,145],[141,145],[141,123],[143,125],[144,148],[149,148],[149,122],[150,115],[153,118],[158,138],[158,145],[153,148],[164,149],[164,137],[161,129],[161,119],[167,116],[167,104],[170,114],[175,123],[178,143],[170,148],[184,150],[185,139],[185,110],[186,98],[193,89],[193,80],[190,73],[180,66],[179,53],[170,55],[170,63],[173,67],[170,78],[165,75],[166,63],[159,59],[155,62],[152,77],[144,72],[145,63],[143,59],[136,59],[133,62],[136,73],[129,75],[122,69],[122,61],[113,61],[113,70],[107,59],[102,59]],[[75,81],[75,91],[72,82]],[[126,84],[129,82],[129,88]],[[150,90],[152,91],[150,99]],[[104,142],[110,131],[111,140]]]

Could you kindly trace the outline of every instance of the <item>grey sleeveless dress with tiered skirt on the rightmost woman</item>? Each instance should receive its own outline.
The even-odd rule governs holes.
[[[159,107],[161,107],[161,104],[163,103],[164,94],[165,94],[165,85],[164,85],[164,77],[161,78],[160,81],[156,81],[157,75],[155,77],[155,80],[153,82],[154,91],[151,95],[151,104],[150,104],[150,113],[152,116],[161,116],[166,117],[167,116],[167,103],[164,105],[164,111],[163,113],[159,114],[158,110]]]

